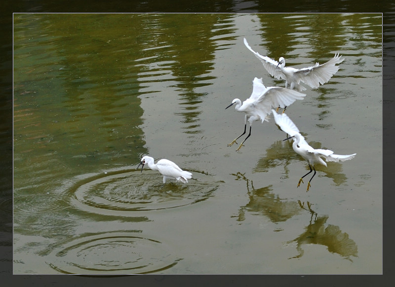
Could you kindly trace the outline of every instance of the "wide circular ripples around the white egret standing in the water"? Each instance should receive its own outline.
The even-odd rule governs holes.
[[[218,188],[211,176],[193,171],[189,183],[166,182],[152,170],[120,170],[90,176],[71,191],[73,204],[89,212],[127,215],[129,211],[175,208],[205,200]]]

